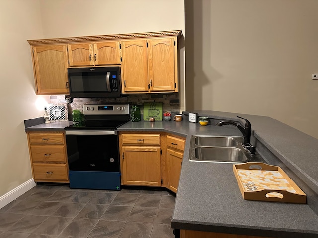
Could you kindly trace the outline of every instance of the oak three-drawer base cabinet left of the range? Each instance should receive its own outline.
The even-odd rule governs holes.
[[[69,182],[64,132],[30,131],[28,143],[35,182]]]

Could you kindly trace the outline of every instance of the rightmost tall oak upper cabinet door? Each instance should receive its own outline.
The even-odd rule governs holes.
[[[174,38],[148,40],[150,91],[175,91]]]

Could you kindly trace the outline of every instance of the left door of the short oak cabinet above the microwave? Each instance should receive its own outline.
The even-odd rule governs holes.
[[[92,44],[68,44],[70,67],[73,66],[93,66]]]

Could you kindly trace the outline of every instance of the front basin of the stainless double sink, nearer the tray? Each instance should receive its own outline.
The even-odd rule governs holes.
[[[194,148],[194,158],[190,161],[219,161],[219,162],[247,162],[244,152],[236,147],[207,147]]]

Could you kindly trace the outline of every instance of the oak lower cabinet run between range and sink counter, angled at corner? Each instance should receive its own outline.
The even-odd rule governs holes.
[[[185,138],[164,132],[120,132],[122,185],[177,192]]]

